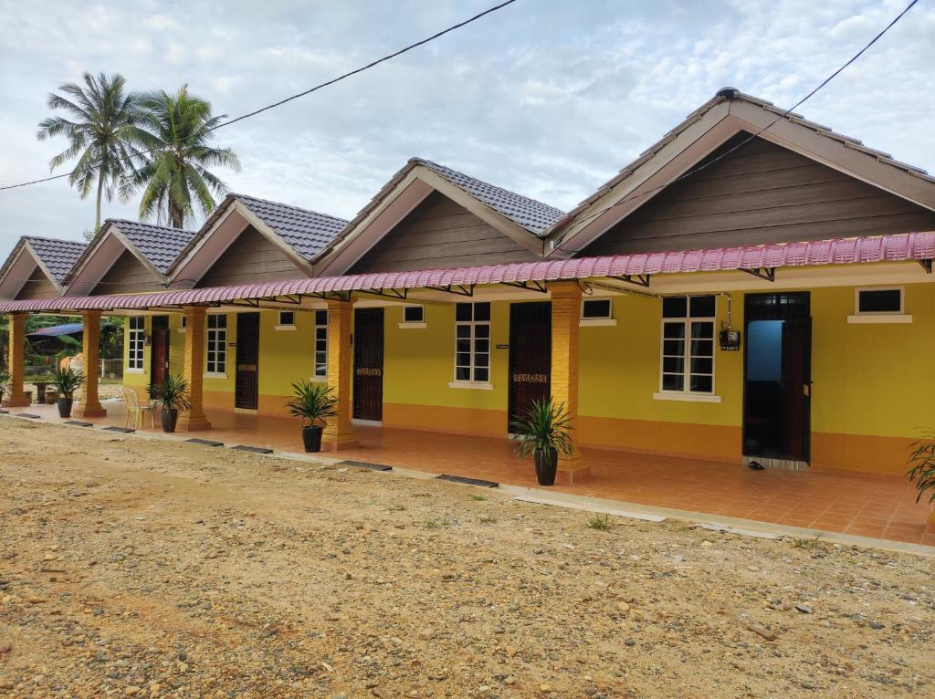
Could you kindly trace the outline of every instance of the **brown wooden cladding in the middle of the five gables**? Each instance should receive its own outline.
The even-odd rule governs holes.
[[[198,280],[198,286],[233,286],[306,276],[276,243],[247,226]]]

